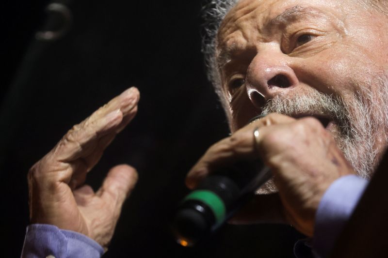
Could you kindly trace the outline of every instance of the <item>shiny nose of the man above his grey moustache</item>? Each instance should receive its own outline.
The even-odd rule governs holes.
[[[263,52],[259,52],[251,61],[245,78],[249,99],[258,108],[299,83],[289,66],[287,55],[275,51]]]

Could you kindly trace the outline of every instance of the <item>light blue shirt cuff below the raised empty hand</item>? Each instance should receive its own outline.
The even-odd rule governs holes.
[[[104,249],[87,236],[53,225],[32,224],[27,227],[22,258],[99,258]]]

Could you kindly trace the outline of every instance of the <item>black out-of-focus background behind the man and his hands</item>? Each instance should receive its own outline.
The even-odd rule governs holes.
[[[301,235],[287,226],[226,226],[191,249],[170,234],[187,171],[228,134],[200,53],[204,2],[77,0],[65,37],[37,41],[48,2],[9,0],[1,8],[0,256],[20,256],[29,167],[73,124],[134,85],[138,115],[88,178],[97,189],[116,164],[139,172],[104,257],[293,257]]]

